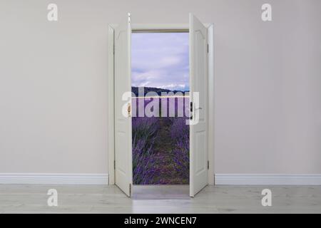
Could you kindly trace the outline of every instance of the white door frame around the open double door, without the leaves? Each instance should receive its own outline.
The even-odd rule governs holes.
[[[208,28],[208,185],[215,185],[214,173],[214,24]],[[114,28],[108,24],[108,184],[115,185],[115,116],[114,116]],[[135,32],[178,32],[188,31],[189,24],[131,24]]]

